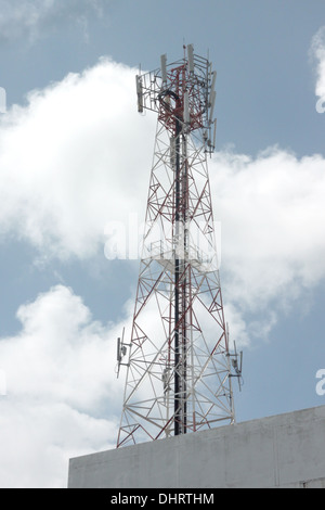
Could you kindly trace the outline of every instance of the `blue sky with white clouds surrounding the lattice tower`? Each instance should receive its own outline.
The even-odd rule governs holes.
[[[237,421],[325,405],[324,2],[0,0],[0,487],[65,487],[115,447],[139,260],[107,254],[144,219],[156,128],[134,76],[184,43],[218,72]]]

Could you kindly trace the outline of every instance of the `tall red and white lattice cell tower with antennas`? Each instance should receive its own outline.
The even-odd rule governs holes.
[[[139,112],[158,122],[131,340],[118,340],[127,379],[117,447],[235,419],[231,378],[242,368],[229,350],[207,166],[216,77],[192,44],[136,76]]]

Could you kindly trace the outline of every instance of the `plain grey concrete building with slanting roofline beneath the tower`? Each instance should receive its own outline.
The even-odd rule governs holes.
[[[69,488],[325,488],[325,406],[79,457]]]

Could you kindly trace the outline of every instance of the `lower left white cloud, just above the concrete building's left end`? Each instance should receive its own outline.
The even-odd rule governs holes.
[[[0,486],[65,487],[68,459],[114,447],[121,409],[120,324],[93,321],[57,285],[17,311],[21,331],[0,341]]]

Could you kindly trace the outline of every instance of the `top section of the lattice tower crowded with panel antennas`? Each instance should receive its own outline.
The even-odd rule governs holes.
[[[138,111],[157,112],[160,123],[176,136],[176,129],[193,132],[212,153],[217,120],[213,116],[217,72],[212,64],[184,47],[184,58],[168,63],[160,56],[160,67],[136,75]],[[197,132],[194,132],[197,131]]]

